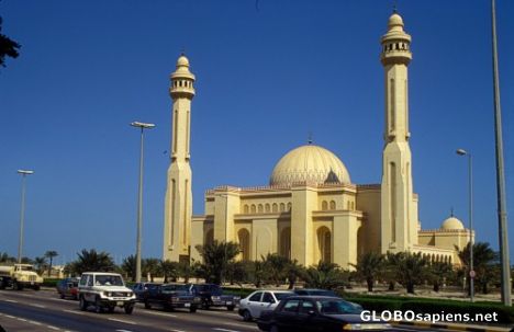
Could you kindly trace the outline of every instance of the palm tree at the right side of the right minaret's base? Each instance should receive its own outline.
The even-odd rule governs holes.
[[[395,264],[395,277],[409,294],[414,294],[414,287],[428,278],[428,260],[421,253],[399,252],[392,255]]]

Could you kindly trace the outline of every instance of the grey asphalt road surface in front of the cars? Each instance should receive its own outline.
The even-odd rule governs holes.
[[[137,305],[133,314],[116,308],[114,313],[80,311],[78,301],[60,299],[52,290],[0,290],[0,325],[7,332],[258,332],[257,324],[244,322],[236,311],[163,311]],[[1,331],[1,329],[0,329]],[[399,328],[398,331],[434,331]]]

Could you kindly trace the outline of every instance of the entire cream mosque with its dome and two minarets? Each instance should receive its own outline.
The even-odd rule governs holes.
[[[456,248],[463,248],[474,234],[454,216],[439,229],[422,230],[418,221],[409,146],[411,36],[398,13],[389,18],[381,46],[386,90],[381,183],[353,183],[337,156],[309,144],[278,161],[268,185],[209,190],[201,216],[192,216],[189,163],[195,77],[181,55],[170,77],[171,163],[163,259],[201,261],[195,247],[217,240],[237,242],[239,260],[278,253],[304,266],[324,261],[353,268],[366,252],[410,251],[459,265]]]

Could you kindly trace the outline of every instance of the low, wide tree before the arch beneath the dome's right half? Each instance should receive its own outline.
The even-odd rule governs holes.
[[[306,287],[335,289],[348,283],[348,275],[335,263],[320,262],[306,270],[303,279]]]

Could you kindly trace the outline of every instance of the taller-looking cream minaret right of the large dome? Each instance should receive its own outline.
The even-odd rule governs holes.
[[[398,13],[389,18],[381,38],[386,72],[386,127],[381,184],[381,249],[399,252],[417,243],[417,204],[412,190],[409,147],[409,80],[411,36]]]

